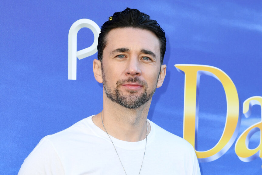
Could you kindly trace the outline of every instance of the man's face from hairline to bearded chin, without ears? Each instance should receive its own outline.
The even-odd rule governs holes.
[[[106,39],[102,59],[106,96],[127,108],[140,107],[157,87],[160,42],[154,33],[135,28],[111,30]]]

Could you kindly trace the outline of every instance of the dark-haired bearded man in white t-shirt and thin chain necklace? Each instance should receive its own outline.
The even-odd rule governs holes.
[[[116,12],[98,38],[103,110],[44,137],[21,174],[200,174],[193,147],[147,120],[166,75],[164,30],[136,9]]]

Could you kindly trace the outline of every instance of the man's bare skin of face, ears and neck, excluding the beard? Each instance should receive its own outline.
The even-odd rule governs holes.
[[[106,85],[114,91],[116,88],[123,96],[132,99],[144,93],[150,94],[162,86],[166,65],[160,66],[160,42],[157,36],[142,29],[118,28],[107,35],[107,45],[103,51],[103,71]],[[101,62],[93,62],[95,79],[103,83]],[[147,88],[141,83],[117,82],[129,77],[139,78],[147,83]],[[110,100],[103,89],[102,117],[109,135],[120,140],[137,142],[146,137],[147,114],[152,98],[143,105],[129,109]],[[92,121],[103,131],[101,114],[92,117]],[[148,125],[148,133],[150,125]]]

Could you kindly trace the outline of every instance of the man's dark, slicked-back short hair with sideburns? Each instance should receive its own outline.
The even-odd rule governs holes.
[[[122,12],[115,12],[109,17],[102,27],[98,37],[97,57],[102,61],[103,50],[106,46],[106,36],[110,30],[116,28],[133,27],[153,32],[160,41],[160,63],[163,64],[164,54],[166,52],[166,37],[164,30],[159,26],[156,20],[150,19],[150,16],[140,12],[137,9],[126,8]]]

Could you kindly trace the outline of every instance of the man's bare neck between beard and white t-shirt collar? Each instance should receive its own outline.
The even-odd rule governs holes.
[[[102,118],[108,134],[128,142],[138,142],[146,138],[147,114],[150,103],[151,99],[136,109],[129,109],[104,98]],[[105,131],[100,113],[94,116],[92,120],[95,125]],[[149,132],[150,124],[148,124]]]

